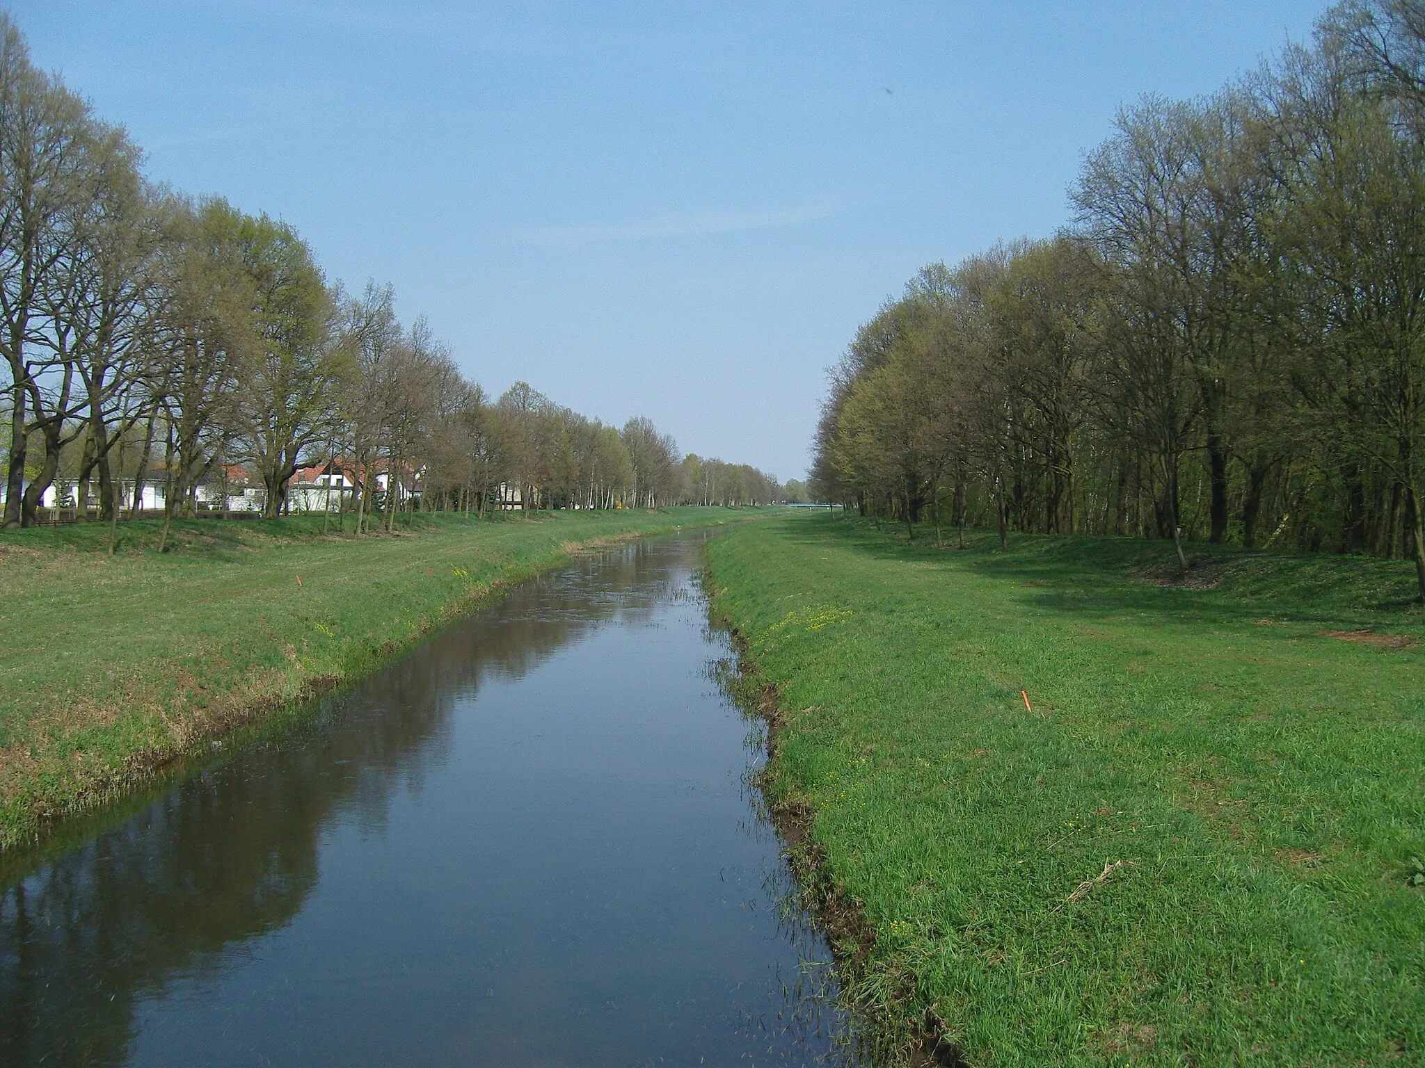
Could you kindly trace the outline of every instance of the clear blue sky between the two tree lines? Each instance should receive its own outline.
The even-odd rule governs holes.
[[[392,282],[492,394],[524,379],[788,478],[886,295],[1053,232],[1120,104],[1210,93],[1324,4],[10,10],[152,178]]]

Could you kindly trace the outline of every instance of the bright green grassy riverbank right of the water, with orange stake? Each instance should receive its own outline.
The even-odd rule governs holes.
[[[875,933],[859,995],[973,1065],[1425,1064],[1411,565],[993,548],[710,547],[781,685],[771,799]]]

